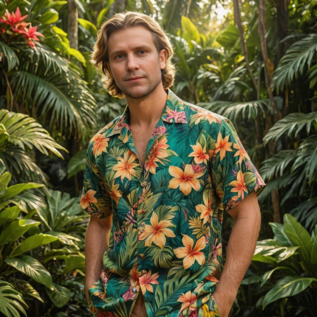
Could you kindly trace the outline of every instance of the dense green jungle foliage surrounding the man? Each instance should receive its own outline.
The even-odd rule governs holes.
[[[230,316],[317,316],[317,0],[0,0],[0,314],[90,316],[86,150],[126,102],[89,55],[124,10],[162,25],[171,89],[231,119],[267,184]]]

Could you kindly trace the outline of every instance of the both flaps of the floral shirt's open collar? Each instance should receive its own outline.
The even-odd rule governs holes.
[[[185,123],[187,124],[187,117],[184,111],[184,101],[181,100],[176,94],[174,94],[170,88],[167,88],[167,100],[165,108],[163,110],[161,119],[169,123]],[[126,108],[122,115],[119,117],[118,121],[114,125],[112,131],[108,134],[111,136],[113,134],[121,133],[124,131],[130,131],[129,126],[129,107]],[[126,134],[126,133],[125,133]]]

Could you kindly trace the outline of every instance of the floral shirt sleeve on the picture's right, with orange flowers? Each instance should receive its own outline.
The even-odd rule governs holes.
[[[211,177],[223,208],[230,210],[252,191],[259,196],[266,184],[245,151],[236,129],[223,119],[216,134]]]

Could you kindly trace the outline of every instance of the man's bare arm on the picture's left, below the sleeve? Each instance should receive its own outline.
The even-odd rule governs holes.
[[[85,237],[86,281],[85,295],[88,303],[88,288],[100,278],[103,267],[103,254],[109,245],[112,215],[106,218],[90,216]]]

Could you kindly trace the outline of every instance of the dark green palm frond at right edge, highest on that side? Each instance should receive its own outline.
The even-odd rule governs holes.
[[[277,94],[284,87],[289,87],[291,82],[304,74],[304,68],[310,68],[316,56],[317,34],[307,37],[292,44],[279,61],[272,79],[272,89],[276,87]]]

